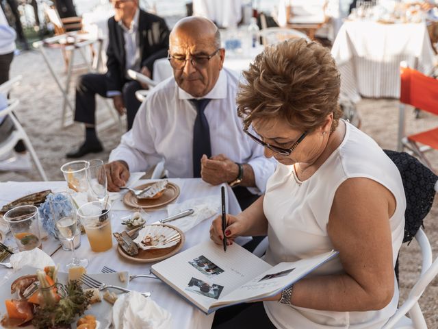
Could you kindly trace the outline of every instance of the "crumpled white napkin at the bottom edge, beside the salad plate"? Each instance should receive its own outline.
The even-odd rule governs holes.
[[[137,291],[119,295],[112,308],[112,321],[117,329],[172,328],[170,313]]]

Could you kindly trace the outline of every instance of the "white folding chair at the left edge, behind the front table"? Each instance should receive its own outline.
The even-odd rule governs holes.
[[[21,75],[18,77],[14,77],[14,79],[5,82],[4,84],[0,85],[0,93],[4,95],[8,95],[12,87],[16,86],[18,82],[21,80]],[[23,141],[25,143],[27,151],[29,151],[31,158],[34,160],[36,168],[38,169],[42,180],[47,181],[46,173],[44,173],[44,169],[42,169],[40,160],[38,159],[38,156],[36,155],[36,151],[32,144],[30,143],[29,137],[27,136],[25,130],[23,129],[23,126],[21,123],[16,119],[14,114],[12,113],[12,110],[18,106],[18,103],[20,101],[18,99],[12,99],[8,100],[8,107],[0,111],[0,118],[10,117],[12,120],[12,123],[14,123],[15,130],[12,131],[12,134],[0,143],[0,156],[5,156],[6,154],[10,153],[14,149],[14,146],[18,141]]]

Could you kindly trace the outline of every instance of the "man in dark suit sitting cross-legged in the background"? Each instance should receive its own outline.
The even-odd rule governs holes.
[[[96,94],[112,97],[117,112],[127,113],[127,127],[131,129],[140,106],[136,91],[148,87],[129,80],[127,70],[152,77],[153,63],[167,54],[169,29],[164,19],[140,10],[138,0],[112,0],[112,5],[115,15],[108,20],[107,73],[79,77],[75,121],[85,123],[86,136],[79,149],[68,153],[67,158],[103,150],[96,135]]]

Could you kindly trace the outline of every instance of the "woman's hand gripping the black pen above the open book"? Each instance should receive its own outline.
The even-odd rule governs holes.
[[[239,216],[233,216],[227,214],[227,228],[225,228],[225,235],[227,236],[227,245],[232,245],[234,239],[237,236],[244,235],[246,231],[246,226],[244,225],[244,219]],[[222,245],[222,217],[218,216],[211,223],[210,227],[210,239],[217,243],[218,245]]]

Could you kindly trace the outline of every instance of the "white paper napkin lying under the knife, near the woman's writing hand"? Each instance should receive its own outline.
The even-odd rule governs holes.
[[[198,225],[198,223],[201,223],[201,221],[205,221],[205,219],[218,214],[220,210],[220,199],[215,196],[196,197],[181,202],[181,204],[169,204],[167,206],[169,216],[188,209],[194,210],[192,215],[175,219],[175,221],[169,221],[168,224],[176,226],[183,232],[187,232],[194,226]]]

